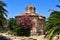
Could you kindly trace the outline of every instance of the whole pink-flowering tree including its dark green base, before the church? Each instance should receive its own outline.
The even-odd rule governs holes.
[[[22,17],[18,18],[17,24],[19,25],[18,34],[22,36],[29,36],[34,22],[32,21],[32,17],[29,15],[23,15]]]

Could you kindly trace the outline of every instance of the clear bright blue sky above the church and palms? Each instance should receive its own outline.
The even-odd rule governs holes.
[[[41,14],[46,18],[51,13],[51,11],[48,11],[49,9],[60,11],[60,9],[56,7],[57,4],[60,4],[58,0],[3,0],[3,1],[7,4],[6,9],[9,12],[8,18],[12,18],[17,15],[20,15],[21,13],[25,13],[25,8],[30,3],[36,7],[37,14]]]

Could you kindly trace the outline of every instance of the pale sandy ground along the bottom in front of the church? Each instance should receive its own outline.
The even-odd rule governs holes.
[[[44,38],[44,35],[40,35],[40,36],[30,36],[30,37],[17,37],[17,36],[13,36],[13,35],[9,35],[9,34],[0,34],[2,36],[5,36],[8,39],[11,40],[32,40],[32,39],[37,39],[37,40],[47,40],[47,38]],[[56,40],[54,38],[54,40]]]

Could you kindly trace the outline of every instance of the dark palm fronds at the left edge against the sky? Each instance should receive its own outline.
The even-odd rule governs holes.
[[[0,1],[0,26],[4,26],[4,21],[7,17],[7,10],[4,8],[6,4],[3,1]]]

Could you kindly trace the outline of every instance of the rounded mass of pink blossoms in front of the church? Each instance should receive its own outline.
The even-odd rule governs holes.
[[[17,24],[24,28],[32,28],[34,25],[32,17],[29,15],[23,15],[22,17],[18,18]]]

